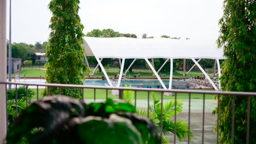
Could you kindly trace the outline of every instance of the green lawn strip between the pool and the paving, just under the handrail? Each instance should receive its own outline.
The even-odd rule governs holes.
[[[37,89],[32,89],[37,93]],[[38,90],[39,99],[42,98],[42,93],[44,89]],[[118,96],[113,96],[112,91],[108,91],[108,98],[118,99]],[[172,93],[174,96],[174,93]],[[177,99],[188,99],[188,93],[177,93]],[[155,92],[155,96],[158,99],[161,99],[161,93]],[[175,97],[164,96],[164,99],[174,99]],[[191,99],[202,99],[203,94],[191,94]],[[37,99],[37,96],[34,95],[33,99]],[[84,99],[94,99],[94,89],[84,89]],[[106,90],[105,89],[96,89],[96,99],[106,99]],[[137,99],[148,99],[148,92],[137,92]],[[152,93],[150,93],[150,99],[152,99]],[[213,94],[206,94],[205,99],[214,99]]]

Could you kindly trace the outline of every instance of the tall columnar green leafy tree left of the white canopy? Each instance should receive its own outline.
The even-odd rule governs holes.
[[[88,70],[84,63],[83,28],[78,15],[79,0],[52,0],[49,9],[51,17],[51,33],[46,47],[45,64],[47,83],[65,83],[83,85],[84,73]],[[71,95],[70,88],[49,89],[50,95],[61,91],[63,95]],[[45,89],[45,95],[46,95]],[[82,98],[82,90],[72,89],[72,96]]]

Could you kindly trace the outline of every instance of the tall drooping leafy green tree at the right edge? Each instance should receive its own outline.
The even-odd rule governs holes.
[[[220,19],[218,46],[223,47],[224,56],[221,86],[223,91],[256,91],[256,3],[253,0],[224,1],[224,14]],[[249,125],[250,143],[256,141],[256,98],[251,97]],[[219,99],[220,143],[231,143],[232,97],[223,95]],[[213,113],[217,113],[217,109]],[[246,143],[247,97],[235,97],[235,143]]]

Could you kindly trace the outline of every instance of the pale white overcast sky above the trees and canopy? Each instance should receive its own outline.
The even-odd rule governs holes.
[[[120,33],[143,33],[190,39],[217,39],[223,0],[80,0],[84,33],[112,28]],[[50,0],[11,0],[12,41],[34,44],[47,41]],[[7,38],[9,39],[9,2]]]

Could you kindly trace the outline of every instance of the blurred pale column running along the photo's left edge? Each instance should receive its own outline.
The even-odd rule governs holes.
[[[6,49],[6,0],[0,0],[0,81],[5,82],[7,76]],[[7,134],[6,89],[0,85],[0,142]]]

